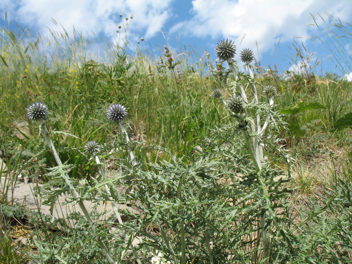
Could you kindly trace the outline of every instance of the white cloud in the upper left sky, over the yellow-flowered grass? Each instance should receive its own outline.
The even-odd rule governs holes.
[[[25,27],[34,27],[41,34],[49,33],[48,27],[52,28],[53,19],[69,34],[74,27],[78,32],[93,31],[107,37],[115,37],[118,26],[133,13],[129,30],[132,34],[139,34],[139,37],[148,38],[161,30],[171,16],[171,2],[172,0],[4,0],[0,11],[7,10],[8,19],[15,19]],[[122,21],[119,14],[122,14]]]

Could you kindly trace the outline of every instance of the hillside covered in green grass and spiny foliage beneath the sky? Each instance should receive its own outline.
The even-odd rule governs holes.
[[[114,263],[106,244],[116,263],[159,263],[158,252],[163,263],[351,263],[351,82],[240,57],[228,68],[188,46],[157,56],[143,40],[131,53],[126,38],[77,32],[0,38],[0,262]],[[34,102],[48,107],[44,121],[28,119]],[[114,103],[128,113],[121,124],[106,117]],[[126,201],[142,213],[120,211],[122,238],[94,213],[52,232],[58,222],[35,224],[7,199],[24,177],[46,183],[44,200],[70,191],[78,203]],[[14,241],[15,223],[28,243]],[[133,249],[135,237],[143,243]]]

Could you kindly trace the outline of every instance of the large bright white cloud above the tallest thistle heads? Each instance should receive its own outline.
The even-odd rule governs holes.
[[[171,32],[181,36],[211,37],[220,40],[231,38],[240,49],[256,50],[256,41],[260,52],[274,49],[279,39],[291,41],[293,37],[308,37],[317,32],[312,14],[325,15],[325,11],[341,20],[352,13],[352,5],[344,0],[334,4],[328,0],[194,0],[193,18],[176,24]]]

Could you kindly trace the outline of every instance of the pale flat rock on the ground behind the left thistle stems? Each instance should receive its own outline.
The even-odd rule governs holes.
[[[4,189],[4,181],[5,181],[5,177],[1,177],[0,191]],[[7,193],[8,201],[11,201],[13,199],[15,203],[25,205],[26,208],[28,208],[29,210],[38,211],[39,209],[40,212],[43,214],[51,214],[50,206],[41,204],[40,198],[34,196],[34,187],[36,185],[37,183],[23,183],[23,182],[17,181],[14,188],[10,186],[8,190],[8,193]],[[38,186],[42,186],[42,184],[38,184]],[[60,196],[54,205],[52,216],[53,218],[56,218],[56,219],[59,219],[59,218],[66,219],[66,222],[69,225],[75,226],[75,222],[73,220],[67,220],[67,215],[73,212],[79,212],[80,214],[83,215],[81,208],[78,206],[77,202],[70,202],[65,205],[62,205],[65,201],[70,201],[71,197],[72,197],[71,194],[65,194],[64,196]],[[93,203],[92,201],[84,201],[84,205],[88,209],[88,212],[92,212],[93,210],[92,208],[95,205],[95,203]],[[118,203],[115,203],[115,205],[118,207],[118,209],[128,210],[129,212],[132,212],[134,214],[139,214],[139,212],[136,209],[131,208],[127,205],[118,204]],[[109,201],[106,202],[105,204],[103,204],[102,201],[99,201],[99,205],[96,209],[96,212],[97,213],[107,212],[102,215],[102,217],[99,219],[100,221],[107,220],[110,216],[114,214],[114,210],[112,208],[111,202]],[[124,220],[123,215],[121,215],[121,218],[122,220]]]

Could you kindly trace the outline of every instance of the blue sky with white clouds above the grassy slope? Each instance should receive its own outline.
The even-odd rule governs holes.
[[[238,54],[250,48],[262,66],[277,65],[281,72],[294,69],[289,56],[290,52],[295,53],[291,44],[295,40],[309,50],[305,56],[313,54],[313,64],[321,61],[317,69],[322,67],[323,72],[336,72],[331,50],[342,49],[345,61],[340,63],[343,66],[339,74],[351,72],[351,37],[339,38],[340,46],[334,46],[334,40],[325,40],[330,48],[308,38],[326,37],[321,32],[328,31],[322,19],[327,25],[331,23],[327,13],[352,24],[351,0],[1,0],[0,12],[5,11],[7,21],[1,15],[1,27],[8,23],[15,27],[16,21],[46,36],[49,29],[58,29],[54,19],[69,34],[75,28],[83,34],[94,32],[112,41],[117,38],[121,19],[125,22],[124,18],[133,13],[128,25],[131,50],[143,37],[143,45],[151,47],[156,55],[161,54],[157,48],[163,44],[171,50],[190,45],[199,49],[200,54],[207,50],[215,60],[216,43],[229,38],[237,44]],[[314,24],[313,16],[320,28]],[[351,33],[350,30],[347,27]]]

